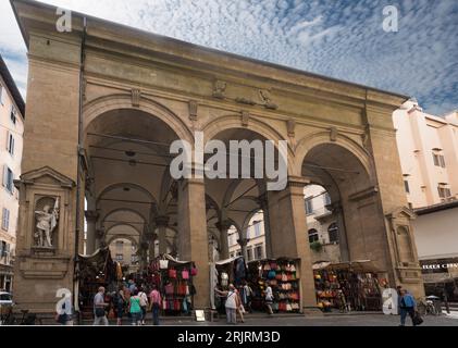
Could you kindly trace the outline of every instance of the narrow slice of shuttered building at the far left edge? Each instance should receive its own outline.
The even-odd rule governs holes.
[[[12,290],[16,249],[18,192],[13,181],[21,176],[24,100],[0,57],[0,290]]]

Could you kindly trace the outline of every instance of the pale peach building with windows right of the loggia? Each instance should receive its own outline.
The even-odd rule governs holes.
[[[407,199],[412,208],[458,198],[458,115],[426,114],[409,100],[393,114]]]

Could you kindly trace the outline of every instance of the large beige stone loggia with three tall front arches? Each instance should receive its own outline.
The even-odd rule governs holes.
[[[59,33],[54,7],[12,4],[29,59],[23,174],[15,182],[14,291],[23,307],[52,312],[57,289],[77,294],[74,257],[83,250],[86,215],[88,252],[127,229],[138,237],[140,269],[157,241],[159,251],[171,247],[180,260],[195,262],[194,306],[209,308],[209,245],[228,258],[234,225],[247,253],[247,227],[262,210],[265,257],[300,260],[301,310],[315,311],[304,213],[310,184],[326,187],[345,221],[349,259],[374,260],[392,286],[409,284],[422,295],[392,119],[408,97],[84,14],[73,13],[72,32]],[[59,132],[49,136],[50,127]],[[197,146],[183,163],[195,175],[173,178],[171,145],[195,144],[196,130],[225,146],[285,140],[284,189],[269,190],[265,176],[200,177]],[[50,221],[42,233],[36,211],[44,216],[38,222]]]

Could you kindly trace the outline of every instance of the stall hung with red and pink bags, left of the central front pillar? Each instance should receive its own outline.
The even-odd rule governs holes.
[[[156,285],[161,293],[164,315],[190,315],[196,295],[195,275],[197,269],[191,261],[178,261],[164,254],[151,262],[147,283]]]

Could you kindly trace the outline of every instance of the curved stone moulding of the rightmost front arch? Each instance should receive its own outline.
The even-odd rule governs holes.
[[[307,153],[315,146],[324,144],[341,146],[349,152],[351,152],[366,169],[366,172],[371,177],[371,179],[373,179],[373,161],[371,154],[358,142],[343,134],[338,134],[336,140],[332,141],[330,139],[330,132],[319,132],[311,135],[307,135],[298,141],[295,148],[296,163],[294,164],[293,175],[301,176],[302,163],[307,157]]]

